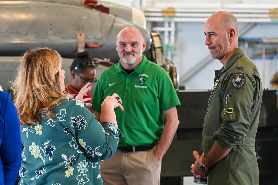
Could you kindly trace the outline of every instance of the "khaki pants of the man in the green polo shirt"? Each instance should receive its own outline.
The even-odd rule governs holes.
[[[149,151],[124,153],[117,150],[115,155],[100,162],[103,185],[151,185],[160,184],[161,164],[153,156],[156,146]]]

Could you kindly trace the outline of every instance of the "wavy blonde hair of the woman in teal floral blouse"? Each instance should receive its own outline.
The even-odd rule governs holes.
[[[23,55],[12,83],[20,124],[29,126],[41,122],[40,113],[55,117],[52,108],[62,99],[72,98],[60,80],[60,64],[61,55],[50,48],[33,48]]]

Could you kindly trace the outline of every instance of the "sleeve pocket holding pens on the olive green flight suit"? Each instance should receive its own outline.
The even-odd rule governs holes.
[[[235,103],[234,97],[232,95],[226,95],[223,102],[223,110],[221,113],[221,117],[225,123],[234,122],[235,121]]]

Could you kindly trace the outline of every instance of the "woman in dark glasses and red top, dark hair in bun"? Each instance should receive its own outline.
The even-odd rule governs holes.
[[[66,85],[66,91],[71,93],[74,98],[80,92],[81,88],[87,83],[95,83],[96,79],[96,66],[92,59],[89,57],[87,51],[77,53],[76,58],[73,60],[71,67],[71,81]],[[84,98],[93,98],[90,92],[84,96]],[[90,103],[91,100],[85,101]],[[88,109],[94,113],[92,109]]]

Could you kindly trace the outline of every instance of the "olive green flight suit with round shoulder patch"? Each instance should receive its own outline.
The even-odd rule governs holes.
[[[215,140],[227,156],[209,169],[208,184],[259,184],[255,136],[262,83],[255,64],[238,48],[225,68],[215,70],[215,84],[203,126],[205,156]]]

